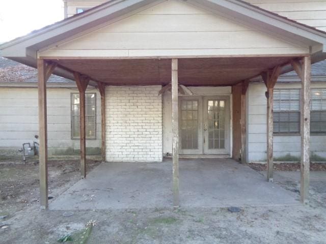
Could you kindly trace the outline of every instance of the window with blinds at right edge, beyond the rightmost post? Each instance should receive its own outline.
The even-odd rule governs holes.
[[[310,132],[326,133],[326,89],[311,89]]]

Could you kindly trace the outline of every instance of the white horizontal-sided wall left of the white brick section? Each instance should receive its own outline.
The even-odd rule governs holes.
[[[101,146],[101,102],[96,89],[96,139],[87,140],[86,147]],[[70,155],[80,148],[79,140],[71,139],[70,94],[76,88],[47,89],[47,129],[49,155]],[[22,143],[38,141],[37,88],[0,88],[0,154],[21,155]]]

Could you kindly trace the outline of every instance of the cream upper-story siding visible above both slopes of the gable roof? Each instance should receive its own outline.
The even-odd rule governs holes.
[[[92,8],[107,0],[64,0],[66,16],[76,14],[77,8]],[[326,0],[244,0],[262,9],[277,13],[300,23],[326,31]]]

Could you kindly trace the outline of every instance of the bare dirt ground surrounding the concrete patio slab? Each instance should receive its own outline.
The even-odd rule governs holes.
[[[88,161],[88,170],[99,163]],[[0,243],[326,243],[326,188],[312,182],[307,206],[41,210],[38,165],[0,164]],[[79,179],[78,161],[49,164],[49,196]],[[276,182],[296,192],[298,182]],[[65,217],[67,216],[68,217]],[[88,240],[85,225],[95,220]]]

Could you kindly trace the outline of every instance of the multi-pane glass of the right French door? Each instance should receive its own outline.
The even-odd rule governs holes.
[[[225,101],[208,100],[208,149],[221,149],[225,137]]]

